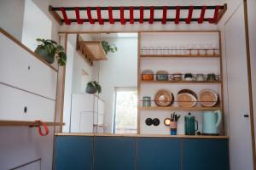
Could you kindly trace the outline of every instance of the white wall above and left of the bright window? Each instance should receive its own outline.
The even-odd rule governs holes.
[[[100,61],[99,82],[105,100],[104,124],[107,133],[113,128],[113,97],[116,87],[137,87],[137,38],[104,39],[118,47],[116,53],[109,53],[108,60]]]

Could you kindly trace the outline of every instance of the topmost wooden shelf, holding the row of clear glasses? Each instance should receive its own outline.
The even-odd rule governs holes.
[[[219,58],[219,54],[141,54],[141,58]]]

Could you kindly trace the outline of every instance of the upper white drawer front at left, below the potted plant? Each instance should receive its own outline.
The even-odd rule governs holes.
[[[55,99],[57,72],[0,35],[0,82]]]

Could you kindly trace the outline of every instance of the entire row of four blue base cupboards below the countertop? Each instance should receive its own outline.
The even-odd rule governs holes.
[[[55,136],[57,170],[86,169],[84,167],[94,170],[230,169],[229,139],[226,137],[59,135]]]

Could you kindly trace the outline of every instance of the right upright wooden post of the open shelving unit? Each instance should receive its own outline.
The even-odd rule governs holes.
[[[219,73],[220,73],[220,77],[223,78],[223,62],[222,62],[222,43],[221,43],[221,32],[219,31],[218,32],[218,49],[219,49]],[[224,84],[223,82],[221,82],[220,84],[220,93],[221,93],[221,104],[220,104],[220,107],[221,107],[221,111],[223,112],[223,119],[222,119],[222,134],[225,134],[225,114],[224,114]]]

